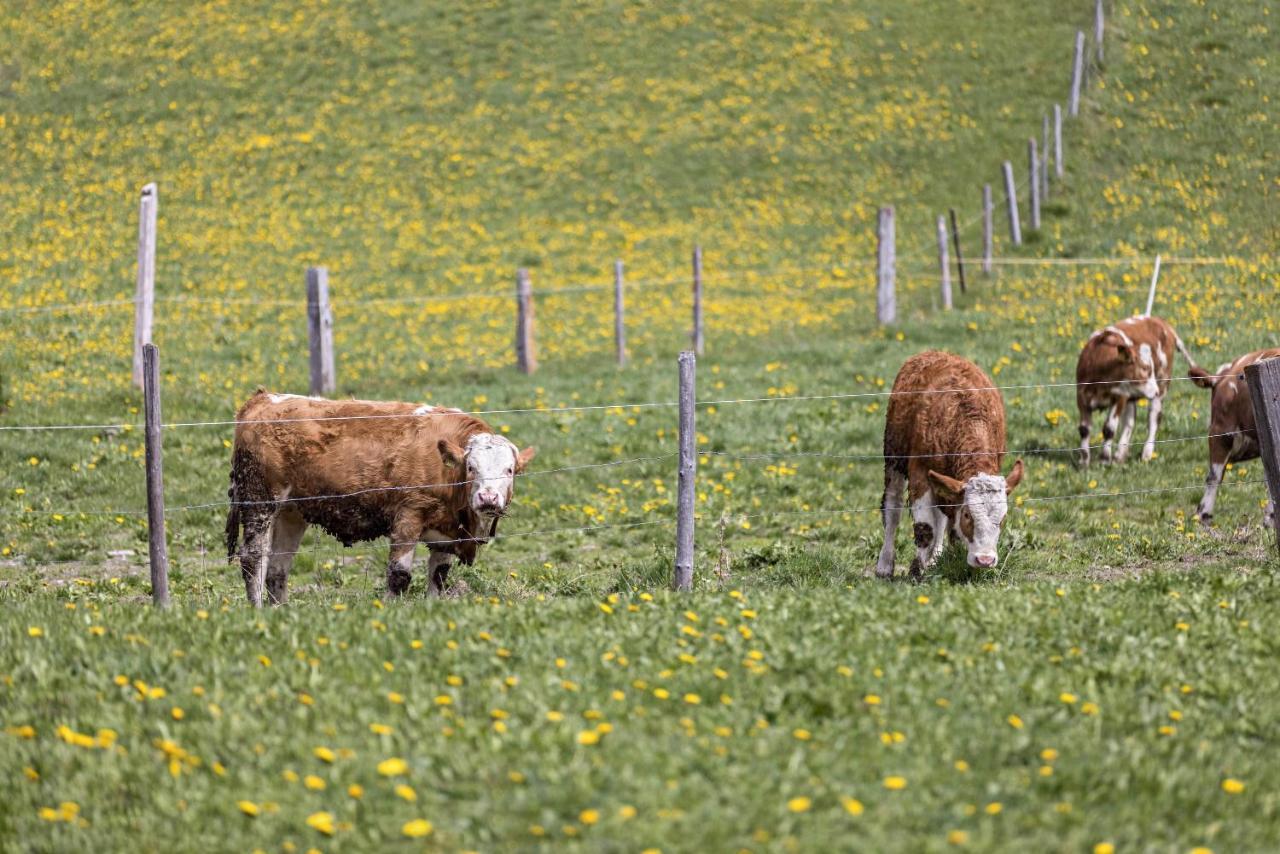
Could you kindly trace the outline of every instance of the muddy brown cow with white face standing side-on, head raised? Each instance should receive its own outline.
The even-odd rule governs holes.
[[[460,410],[326,401],[259,389],[236,415],[227,557],[239,547],[248,600],[288,597],[289,567],[307,525],[343,545],[390,539],[387,589],[408,589],[413,549],[430,549],[429,592],[444,590],[454,558],[475,561],[511,504],[515,476],[534,457]]]

